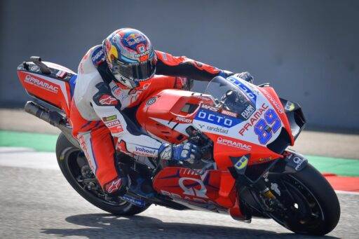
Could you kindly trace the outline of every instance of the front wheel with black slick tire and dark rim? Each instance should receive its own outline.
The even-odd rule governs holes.
[[[294,174],[269,174],[265,181],[285,208],[266,214],[282,226],[308,235],[325,235],[337,226],[337,194],[312,165]]]

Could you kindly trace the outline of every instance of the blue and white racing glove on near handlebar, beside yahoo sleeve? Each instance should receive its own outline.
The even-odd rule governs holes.
[[[158,150],[158,157],[163,160],[187,161],[194,163],[201,158],[198,146],[191,143],[162,144]]]

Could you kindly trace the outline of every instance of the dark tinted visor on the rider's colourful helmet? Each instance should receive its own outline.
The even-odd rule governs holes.
[[[126,63],[116,60],[113,74],[120,74],[133,81],[146,81],[148,78],[154,76],[156,71],[156,59],[152,57],[151,60],[140,63]]]

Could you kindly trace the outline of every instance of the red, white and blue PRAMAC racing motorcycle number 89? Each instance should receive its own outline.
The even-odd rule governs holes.
[[[18,66],[22,86],[34,100],[25,111],[62,130],[57,162],[69,184],[86,200],[116,215],[134,215],[149,205],[207,210],[238,221],[273,219],[295,233],[324,235],[337,226],[337,195],[301,154],[287,149],[306,125],[299,104],[278,97],[269,83],[217,76],[204,93],[158,90],[132,111],[144,132],[162,142],[192,142],[201,148],[195,162],[126,158],[130,174],[150,179],[156,195],[128,191],[106,197],[72,137],[69,107],[76,74],[41,57]]]

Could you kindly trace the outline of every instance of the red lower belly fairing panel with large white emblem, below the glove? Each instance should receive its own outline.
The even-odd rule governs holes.
[[[234,183],[229,171],[208,170],[198,175],[188,168],[167,167],[154,178],[154,189],[191,205],[206,207],[211,204],[229,209],[236,207]]]

